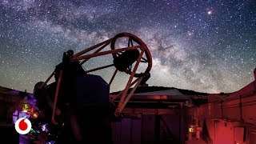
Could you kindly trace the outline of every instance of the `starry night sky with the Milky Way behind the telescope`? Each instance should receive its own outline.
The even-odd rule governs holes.
[[[254,81],[255,0],[0,0],[0,86],[32,92],[62,62],[121,32],[153,58],[149,86],[234,92]],[[103,57],[86,62],[112,62]],[[113,68],[97,72],[108,82]],[[118,73],[111,91],[122,90]]]

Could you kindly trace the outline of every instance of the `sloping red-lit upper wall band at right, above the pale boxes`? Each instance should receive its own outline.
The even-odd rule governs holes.
[[[241,102],[241,106],[240,106]],[[241,98],[212,102],[198,108],[187,110],[190,115],[196,114],[200,120],[204,118],[224,118],[246,123],[256,123],[256,94],[244,95]]]

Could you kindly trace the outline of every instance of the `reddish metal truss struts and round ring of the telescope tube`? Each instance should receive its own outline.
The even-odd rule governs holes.
[[[123,39],[123,38],[125,38],[125,39],[128,38],[128,46],[118,48],[116,43],[119,39]],[[107,46],[110,46],[110,50],[106,49]],[[70,58],[70,62],[78,62],[79,61],[80,64],[82,65],[85,62],[87,62],[90,58],[97,58],[99,56],[103,56],[103,55],[107,55],[107,54],[112,54],[113,58],[117,58],[119,55],[124,53],[126,50],[136,50],[136,49],[139,51],[139,56],[138,56],[137,60],[135,61],[135,65],[129,66],[128,68],[126,68],[126,70],[124,70],[124,72],[126,74],[130,75],[128,82],[126,82],[125,88],[116,97],[110,98],[110,102],[112,104],[114,104],[113,101],[116,98],[121,97],[118,102],[118,106],[114,112],[114,115],[117,117],[119,114],[122,113],[122,110],[126,106],[126,103],[129,101],[132,94],[134,94],[134,91],[137,89],[139,84],[143,80],[145,81],[145,78],[150,75],[150,70],[152,67],[152,58],[151,58],[150,50],[147,48],[146,44],[144,42],[142,42],[142,40],[140,38],[138,38],[137,36],[135,36],[134,34],[121,33],[121,34],[117,34],[116,36],[114,36],[114,38],[110,38],[104,42],[98,43],[94,46],[91,46],[91,47],[85,49],[85,50],[82,50],[82,51],[78,52],[77,54],[74,54]],[[94,50],[94,52],[92,52],[92,50]],[[147,63],[146,70],[142,71],[142,72],[138,72],[139,71],[138,66],[141,62]],[[110,66],[114,66],[114,63],[110,63],[109,65],[106,65],[106,66],[99,66],[92,70],[86,70],[86,73],[94,72],[97,70],[103,70]],[[116,68],[114,70],[114,74],[110,78],[110,82],[109,82],[110,86],[111,86],[117,72],[118,72],[118,68]],[[46,79],[46,82],[44,82],[43,86],[46,86],[47,82],[50,81],[50,78],[52,78],[54,76],[54,74],[55,74],[55,72],[50,74],[50,77]],[[55,115],[54,112],[56,110],[56,105],[57,105],[57,101],[58,101],[58,92],[59,92],[61,82],[62,82],[62,70],[59,73],[57,88],[56,88],[55,97],[54,97],[54,108],[53,108],[53,115],[52,115],[53,123],[56,123],[55,118],[54,118],[54,115]],[[134,87],[130,90],[130,93],[128,93],[128,90],[131,88],[131,86],[134,86]]]

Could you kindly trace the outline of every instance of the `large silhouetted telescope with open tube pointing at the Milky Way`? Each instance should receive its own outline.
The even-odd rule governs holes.
[[[122,42],[126,42],[127,39],[128,46],[123,47]],[[90,70],[82,68],[82,64],[90,59],[107,54],[113,56],[113,63],[96,66]],[[140,63],[143,63],[143,66],[139,65]],[[90,74],[111,66],[114,66],[115,70],[109,82],[98,75]],[[114,38],[90,46],[77,54],[74,54],[73,50],[68,50],[63,54],[62,62],[56,66],[54,72],[40,87],[42,90],[49,91],[48,95],[53,102],[51,122],[57,123],[54,118],[57,104],[58,107],[63,106],[66,110],[66,106],[76,108],[79,104],[83,106],[84,103],[86,105],[88,103],[89,105],[96,104],[99,107],[109,106],[112,103],[115,107],[114,112],[110,110],[110,113],[114,113],[114,116],[118,118],[139,84],[145,83],[150,78],[151,67],[150,50],[140,38],[130,33],[117,34]],[[146,69],[143,70],[144,68]],[[122,92],[116,97],[110,98],[110,86],[118,71],[125,72],[130,76]],[[52,77],[55,78],[55,82],[52,85],[47,85]],[[128,91],[131,86],[133,86],[132,90]],[[58,95],[60,95],[59,99]],[[120,99],[118,103],[114,103],[116,98]],[[43,104],[44,102],[42,102],[42,106],[44,106]]]

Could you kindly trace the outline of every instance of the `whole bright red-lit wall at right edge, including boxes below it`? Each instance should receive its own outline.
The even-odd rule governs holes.
[[[256,143],[255,83],[232,94],[210,94],[209,103],[186,110],[191,118],[196,117],[198,126],[206,122],[202,129],[207,129],[208,143]]]

